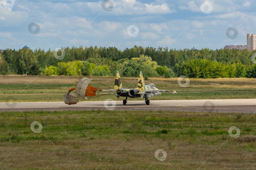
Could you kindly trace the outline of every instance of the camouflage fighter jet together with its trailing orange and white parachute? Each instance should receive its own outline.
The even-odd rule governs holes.
[[[137,89],[124,89],[122,86],[120,74],[117,71],[115,78],[114,89],[98,89],[91,85],[90,82],[98,83],[104,85],[94,79],[82,78],[76,83],[76,87],[71,88],[64,95],[64,102],[66,104],[76,104],[79,101],[84,101],[92,97],[99,97],[103,95],[116,94],[119,97],[125,97],[123,104],[127,103],[127,98],[144,98],[147,105],[149,105],[149,98],[155,96],[160,96],[162,93],[172,93],[177,94],[176,91],[159,90],[154,84],[145,85],[142,72],[140,71],[140,76],[138,79]],[[104,85],[109,87],[107,85]],[[111,88],[111,87],[110,87]],[[72,91],[75,91],[74,93]]]

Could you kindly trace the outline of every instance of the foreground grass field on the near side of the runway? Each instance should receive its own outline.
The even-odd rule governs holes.
[[[255,134],[256,115],[218,116],[164,111],[2,112],[0,169],[255,169],[255,142],[232,138],[228,130],[237,126],[241,135]],[[42,124],[41,132],[32,132],[34,121]],[[157,149],[166,152],[164,161],[156,159]]]

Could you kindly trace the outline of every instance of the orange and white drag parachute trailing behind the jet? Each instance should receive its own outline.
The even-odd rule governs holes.
[[[90,81],[94,81],[93,79],[82,78],[76,83],[76,87],[71,88],[69,91],[66,92],[64,95],[64,103],[66,104],[76,104],[79,101],[87,100],[90,97],[95,97],[96,94],[99,96],[105,94],[113,94],[113,93],[100,93],[104,90],[97,89],[91,85],[89,85]],[[99,83],[94,81],[95,83]],[[99,83],[104,85],[102,83]],[[107,85],[105,85],[107,86]],[[107,86],[108,87],[108,86]],[[75,93],[73,91],[75,90]],[[111,89],[109,89],[111,90]]]

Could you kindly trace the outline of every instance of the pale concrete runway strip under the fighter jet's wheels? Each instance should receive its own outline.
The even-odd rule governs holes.
[[[114,104],[114,105],[112,105]],[[256,113],[256,99],[219,99],[219,100],[144,100],[80,102],[67,105],[64,102],[33,102],[33,103],[0,103],[2,111],[57,111],[57,110],[168,110],[220,113]]]

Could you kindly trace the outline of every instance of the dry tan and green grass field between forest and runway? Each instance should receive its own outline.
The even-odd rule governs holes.
[[[63,101],[64,94],[76,86],[82,76],[0,76],[0,102],[57,102]],[[114,86],[114,77],[93,77],[109,87]],[[124,88],[136,88],[137,77],[121,77]],[[185,80],[184,80],[185,82]],[[190,79],[188,87],[178,85],[178,78],[149,78],[145,84],[154,83],[161,90],[175,90],[178,95],[162,94],[154,100],[183,100],[183,99],[233,99],[256,98],[256,79],[226,78],[226,79]],[[99,89],[109,87],[92,84]],[[91,100],[123,100],[115,94]],[[140,99],[129,99],[140,100]]]

